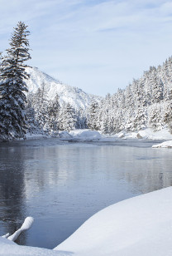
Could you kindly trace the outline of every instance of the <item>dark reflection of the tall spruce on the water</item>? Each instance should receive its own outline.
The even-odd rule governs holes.
[[[5,147],[0,150],[0,229],[1,234],[14,233],[25,219],[23,198],[24,175],[22,149]],[[18,240],[25,244],[25,234]]]

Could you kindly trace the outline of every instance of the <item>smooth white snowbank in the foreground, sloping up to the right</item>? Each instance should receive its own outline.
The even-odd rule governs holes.
[[[99,211],[55,250],[19,246],[0,238],[0,255],[170,256],[171,213],[169,187]]]

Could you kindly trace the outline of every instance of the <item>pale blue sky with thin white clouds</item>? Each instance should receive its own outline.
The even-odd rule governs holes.
[[[0,0],[0,52],[28,25],[31,66],[105,96],[172,55],[172,1]]]

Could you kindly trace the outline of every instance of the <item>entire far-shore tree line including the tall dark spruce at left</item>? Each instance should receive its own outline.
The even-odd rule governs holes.
[[[36,93],[28,91],[29,34],[18,22],[0,63],[0,140],[26,138],[26,132],[58,135],[59,130],[84,128],[114,134],[168,126],[172,132],[172,57],[162,66],[151,66],[125,90],[76,110],[69,103],[60,106],[59,96],[48,100],[44,83]]]

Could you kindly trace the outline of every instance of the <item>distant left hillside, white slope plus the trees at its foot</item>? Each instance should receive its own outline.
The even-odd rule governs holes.
[[[87,109],[101,97],[67,86],[36,67],[26,67],[27,132],[55,135],[58,130],[87,128]]]

